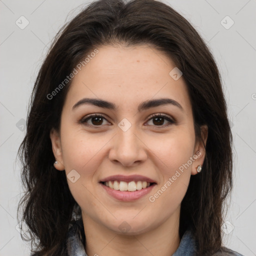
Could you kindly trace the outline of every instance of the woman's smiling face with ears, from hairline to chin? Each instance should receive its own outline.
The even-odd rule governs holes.
[[[178,225],[190,175],[204,158],[184,79],[166,55],[147,45],[97,49],[76,68],[60,132],[50,133],[55,167],[65,170],[87,221],[134,234],[166,221]],[[82,103],[84,98],[110,103]],[[163,98],[169,102],[157,101]],[[91,114],[96,117],[87,118]],[[145,181],[150,186],[141,188]]]

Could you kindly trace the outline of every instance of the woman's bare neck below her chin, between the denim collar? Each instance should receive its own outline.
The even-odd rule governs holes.
[[[85,251],[95,255],[170,256],[180,243],[179,209],[157,227],[140,234],[119,234],[82,214]]]

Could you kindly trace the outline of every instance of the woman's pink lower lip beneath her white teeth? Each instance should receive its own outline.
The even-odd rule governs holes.
[[[120,190],[115,190],[113,188],[110,188],[102,183],[100,183],[101,186],[106,190],[106,192],[111,195],[112,197],[121,200],[121,201],[132,201],[136,200],[143,195],[149,193],[151,189],[156,185],[155,183],[146,187],[142,188],[140,190],[135,190],[135,191],[120,191]]]

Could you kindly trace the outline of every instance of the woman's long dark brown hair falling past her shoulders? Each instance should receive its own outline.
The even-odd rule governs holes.
[[[232,135],[220,74],[197,31],[170,6],[156,0],[98,0],[90,3],[57,33],[38,72],[27,115],[27,130],[18,149],[26,193],[18,209],[28,226],[37,255],[61,255],[74,215],[80,214],[65,172],[53,167],[50,129],[59,129],[70,80],[56,95],[47,95],[77,63],[100,45],[150,44],[182,71],[194,118],[194,131],[208,126],[202,171],[190,177],[181,202],[179,235],[190,225],[198,255],[221,250],[223,206],[232,187]],[[73,212],[74,209],[78,209]],[[23,237],[22,237],[23,238]],[[25,239],[25,238],[24,238]]]

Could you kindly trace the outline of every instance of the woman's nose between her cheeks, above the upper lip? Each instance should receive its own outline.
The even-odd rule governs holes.
[[[147,158],[147,146],[135,125],[131,125],[126,131],[117,127],[111,143],[108,157],[115,163],[132,166],[145,161]]]

